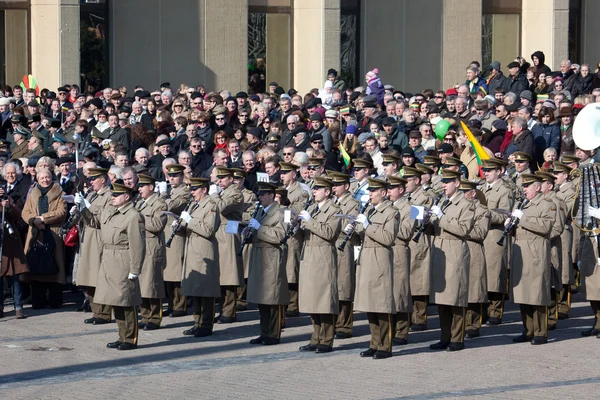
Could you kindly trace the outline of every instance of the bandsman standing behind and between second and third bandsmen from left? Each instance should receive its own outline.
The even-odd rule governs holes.
[[[167,180],[171,186],[168,195],[163,195],[167,204],[167,211],[179,215],[190,202],[190,192],[184,183],[185,166],[170,164],[166,167]],[[169,216],[165,236],[171,237],[173,228],[171,225],[176,219]],[[164,315],[172,318],[187,315],[187,301],[181,294],[181,278],[183,276],[183,255],[185,252],[185,230],[179,230],[173,236],[171,246],[166,248],[167,266],[163,272],[165,286],[168,296],[168,308]]]

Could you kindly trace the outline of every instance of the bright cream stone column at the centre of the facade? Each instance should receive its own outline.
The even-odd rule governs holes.
[[[301,94],[340,70],[340,0],[294,1],[294,79]]]

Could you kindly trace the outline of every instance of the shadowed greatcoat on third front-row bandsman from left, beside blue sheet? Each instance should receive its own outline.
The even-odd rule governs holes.
[[[252,234],[250,269],[248,271],[249,303],[289,304],[286,250],[281,244],[285,228],[279,204],[273,203],[259,219],[260,228]]]

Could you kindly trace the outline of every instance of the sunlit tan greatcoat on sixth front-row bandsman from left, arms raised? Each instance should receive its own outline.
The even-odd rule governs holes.
[[[467,307],[469,297],[469,246],[475,205],[457,192],[443,206],[440,219],[432,217],[430,301],[435,304]]]

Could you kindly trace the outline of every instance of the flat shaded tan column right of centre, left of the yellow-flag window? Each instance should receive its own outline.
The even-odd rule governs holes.
[[[471,61],[481,61],[481,0],[444,0],[442,88],[466,81]]]

